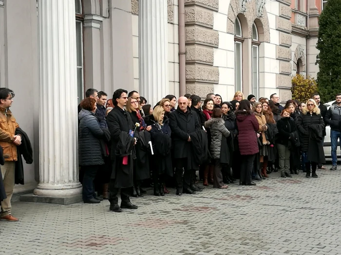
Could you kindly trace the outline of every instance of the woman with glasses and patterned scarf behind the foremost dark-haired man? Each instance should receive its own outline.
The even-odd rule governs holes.
[[[127,103],[127,111],[130,113],[132,117],[133,123],[135,124],[135,132],[144,132],[151,131],[152,127],[147,126],[146,122],[142,118],[142,114],[139,109],[138,101],[132,97],[128,99]],[[148,115],[149,113],[145,113]],[[141,140],[138,140],[135,146],[136,151],[136,159],[134,160],[134,185],[133,185],[133,197],[143,197],[144,195],[141,192],[140,183],[145,179],[149,179],[150,170],[149,170],[149,157],[146,154],[146,148],[143,146]]]

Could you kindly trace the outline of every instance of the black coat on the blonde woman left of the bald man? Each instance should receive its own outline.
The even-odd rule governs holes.
[[[158,174],[173,176],[169,119],[164,117],[161,128],[152,115],[146,116],[145,121],[147,126],[152,126],[151,138],[154,152],[154,155],[151,156],[152,169]]]

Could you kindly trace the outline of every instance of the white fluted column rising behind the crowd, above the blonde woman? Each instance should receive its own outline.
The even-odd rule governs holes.
[[[140,95],[155,105],[169,93],[167,0],[139,0]]]

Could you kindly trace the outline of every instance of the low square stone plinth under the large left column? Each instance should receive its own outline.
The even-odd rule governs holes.
[[[69,196],[69,197],[48,197],[48,196],[36,196],[34,194],[26,194],[20,196],[21,202],[34,202],[34,203],[46,203],[46,204],[75,204],[82,202],[82,194]]]

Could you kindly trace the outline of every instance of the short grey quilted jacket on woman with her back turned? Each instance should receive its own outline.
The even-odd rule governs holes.
[[[221,118],[211,118],[205,122],[205,128],[210,130],[211,133],[211,157],[216,159],[220,158],[221,143],[223,136],[228,137],[230,132],[225,127],[225,121]]]

